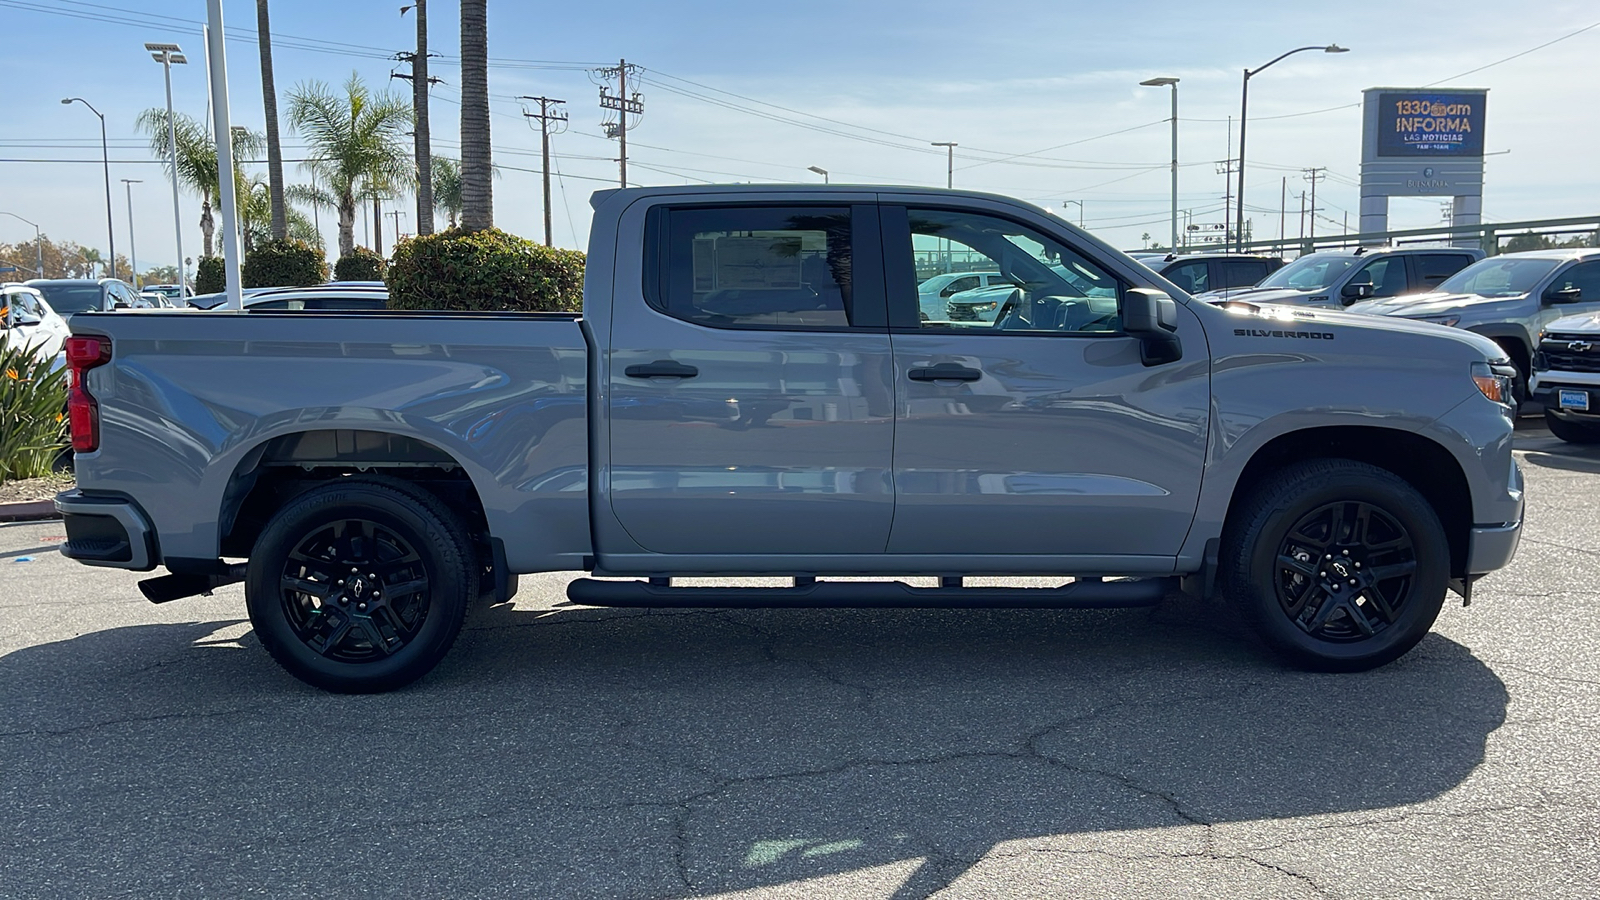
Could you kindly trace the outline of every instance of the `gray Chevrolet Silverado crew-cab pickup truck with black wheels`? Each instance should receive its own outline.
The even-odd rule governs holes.
[[[1365,669],[1515,552],[1483,336],[1197,303],[984,194],[592,203],[582,315],[75,315],[62,552],[165,567],[157,602],[243,581],[272,657],[347,692],[422,676],[474,602],[552,570],[624,607],[1216,594],[1290,661]],[[918,259],[954,256],[1019,285],[994,320],[922,320]],[[755,575],[792,583],[682,581]],[[1059,585],[965,581],[995,575]]]

